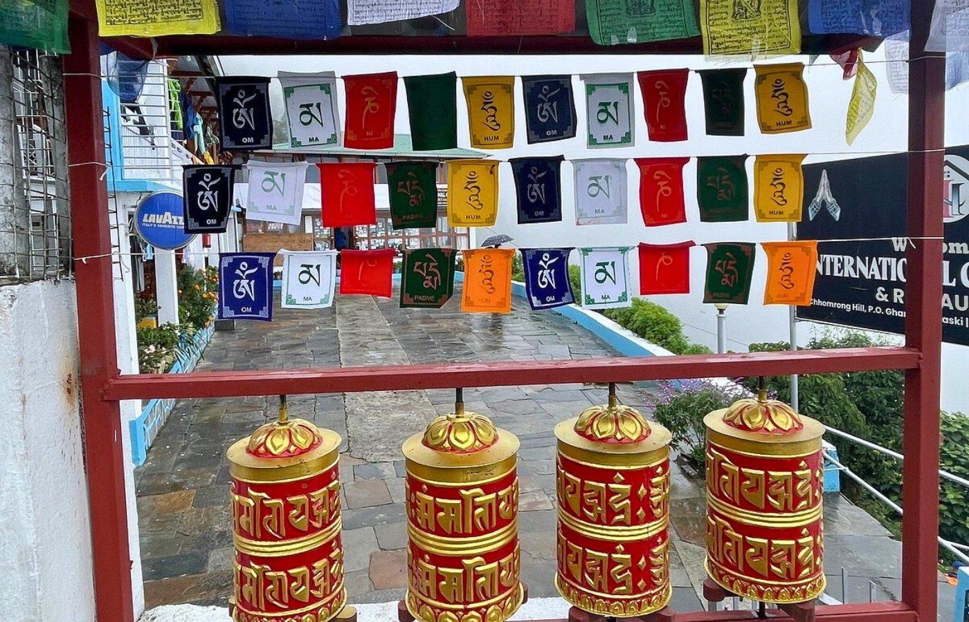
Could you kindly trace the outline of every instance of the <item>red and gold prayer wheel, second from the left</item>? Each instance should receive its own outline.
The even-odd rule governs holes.
[[[521,605],[517,450],[460,401],[404,442],[404,602],[421,622],[504,622]]]

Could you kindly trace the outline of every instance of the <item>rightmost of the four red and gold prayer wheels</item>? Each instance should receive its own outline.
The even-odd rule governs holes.
[[[738,400],[706,426],[706,572],[761,603],[807,603],[822,570],[824,427],[791,406]]]

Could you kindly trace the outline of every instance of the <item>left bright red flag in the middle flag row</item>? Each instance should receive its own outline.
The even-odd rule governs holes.
[[[376,224],[373,196],[376,163],[319,163],[323,226]]]

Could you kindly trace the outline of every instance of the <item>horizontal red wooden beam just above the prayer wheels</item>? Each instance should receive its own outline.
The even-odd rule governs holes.
[[[573,382],[631,382],[718,376],[911,370],[919,367],[920,360],[919,351],[912,348],[871,347],[582,361],[509,361],[303,370],[146,373],[111,378],[102,394],[104,400],[152,400]]]

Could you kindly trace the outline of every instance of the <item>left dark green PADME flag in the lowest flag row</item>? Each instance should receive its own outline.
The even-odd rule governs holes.
[[[454,293],[453,249],[406,249],[400,270],[400,307],[440,309]]]

